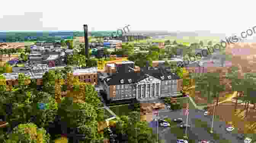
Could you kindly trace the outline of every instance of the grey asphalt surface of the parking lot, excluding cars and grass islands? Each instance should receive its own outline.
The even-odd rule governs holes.
[[[171,119],[174,118],[183,118],[186,122],[186,116],[184,115],[182,110],[177,110],[173,112],[159,112],[159,117],[168,117]],[[199,140],[213,140],[213,136],[209,134],[203,127],[195,127],[195,119],[201,119],[202,121],[206,121],[208,123],[208,126],[211,127],[211,116],[204,116],[203,112],[196,109],[190,109],[189,110],[189,121],[188,124],[191,126],[190,129],[188,128],[188,136],[190,139],[199,141]],[[154,124],[154,123],[151,123]],[[219,127],[222,125],[222,127]],[[162,140],[166,140],[167,142],[170,141],[176,141],[177,138],[174,134],[170,132],[171,127],[158,127],[158,133]],[[156,132],[156,128],[153,127],[154,132]],[[185,130],[185,129],[184,129]],[[234,134],[232,132],[227,133],[226,131],[226,125],[222,121],[218,121],[217,119],[214,120],[214,126],[213,126],[214,133],[219,134],[221,138],[225,138],[226,140],[229,140],[232,143],[243,143],[243,140],[237,139],[237,134]],[[185,131],[184,131],[185,132]],[[218,141],[217,141],[218,143]]]

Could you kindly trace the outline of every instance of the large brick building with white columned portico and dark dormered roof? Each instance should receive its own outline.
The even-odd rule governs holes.
[[[107,99],[112,101],[179,96],[182,90],[182,79],[162,69],[117,72],[104,79],[104,90],[107,93]]]

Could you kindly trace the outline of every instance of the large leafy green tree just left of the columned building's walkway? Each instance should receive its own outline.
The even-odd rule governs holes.
[[[97,113],[93,105],[86,102],[73,102],[71,97],[66,97],[60,104],[58,115],[61,116],[62,124],[66,124],[67,127],[77,127],[78,134],[86,135],[86,140],[81,143],[97,140]]]

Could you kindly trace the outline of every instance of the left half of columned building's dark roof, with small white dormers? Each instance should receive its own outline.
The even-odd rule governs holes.
[[[104,80],[108,85],[122,85],[122,84],[137,83],[143,79],[146,79],[147,77],[148,76],[143,72],[126,72],[126,73],[119,72],[110,77],[105,78]]]

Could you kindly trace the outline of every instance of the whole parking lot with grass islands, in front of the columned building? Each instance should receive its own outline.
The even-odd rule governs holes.
[[[169,111],[169,112],[161,112],[159,111],[160,118],[182,118],[183,121],[186,123],[186,116],[183,113],[183,110],[176,110],[176,111]],[[200,120],[200,122],[198,122]],[[205,123],[205,124],[200,124]],[[222,122],[218,121],[217,119],[214,120],[213,132],[214,134],[210,134],[210,125],[211,125],[211,116],[203,115],[203,112],[197,109],[190,109],[189,110],[189,121],[188,124],[191,126],[187,130],[187,135],[189,137],[189,142],[198,143],[200,140],[207,140],[207,141],[214,141],[216,143],[243,143],[243,140],[238,140],[235,132],[227,132],[226,127],[227,125]],[[156,122],[152,121],[149,123],[149,126],[153,128],[153,131],[156,132]],[[208,128],[206,127],[208,126]],[[170,127],[160,127],[158,126],[158,134],[160,139],[165,140],[167,142],[176,141],[180,139],[184,133],[186,128],[181,129],[179,127],[179,123],[171,124]],[[178,137],[178,138],[177,138]],[[218,140],[216,140],[216,138]]]

